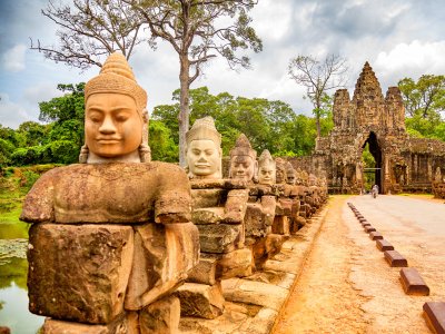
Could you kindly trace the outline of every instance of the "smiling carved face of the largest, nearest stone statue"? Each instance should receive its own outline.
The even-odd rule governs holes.
[[[88,148],[99,157],[136,151],[142,141],[142,119],[135,100],[115,92],[91,95],[86,104],[85,135]]]

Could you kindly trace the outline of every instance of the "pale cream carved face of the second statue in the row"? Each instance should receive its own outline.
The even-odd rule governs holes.
[[[218,178],[221,160],[220,149],[214,140],[191,140],[187,147],[187,165],[190,174]]]

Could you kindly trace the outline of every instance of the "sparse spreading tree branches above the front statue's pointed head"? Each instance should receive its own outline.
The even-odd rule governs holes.
[[[121,51],[127,60],[139,38],[142,22],[131,6],[122,0],[75,0],[73,10],[68,4],[49,0],[43,16],[60,27],[59,46],[37,46],[31,39],[31,50],[43,52],[56,62],[85,70],[91,65],[102,66],[103,58]]]

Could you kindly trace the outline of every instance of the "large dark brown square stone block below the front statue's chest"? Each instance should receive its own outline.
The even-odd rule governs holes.
[[[33,224],[29,310],[73,322],[110,323],[123,311],[132,258],[130,226]]]

